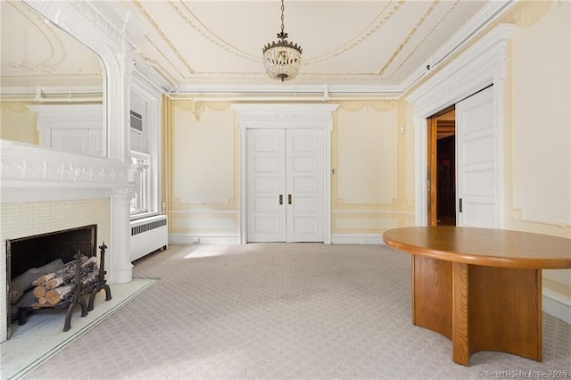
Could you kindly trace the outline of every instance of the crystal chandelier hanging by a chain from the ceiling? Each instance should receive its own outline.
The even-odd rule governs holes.
[[[284,31],[284,0],[282,0],[282,31],[277,33],[279,41],[265,45],[261,50],[264,54],[264,67],[269,78],[284,80],[297,76],[302,66],[302,47],[285,41]]]

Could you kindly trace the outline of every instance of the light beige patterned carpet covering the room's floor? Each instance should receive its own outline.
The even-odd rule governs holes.
[[[171,245],[157,281],[28,379],[482,378],[571,370],[569,325],[543,314],[543,361],[478,352],[410,322],[410,256],[382,245]],[[522,372],[519,372],[522,371]]]

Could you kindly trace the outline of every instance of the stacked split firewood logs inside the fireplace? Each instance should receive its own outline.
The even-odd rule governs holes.
[[[76,266],[78,260],[66,263],[63,268],[37,277],[32,281],[34,297],[37,302],[34,307],[66,306],[76,297]],[[91,293],[99,285],[97,258],[81,256],[79,258],[80,295]]]

